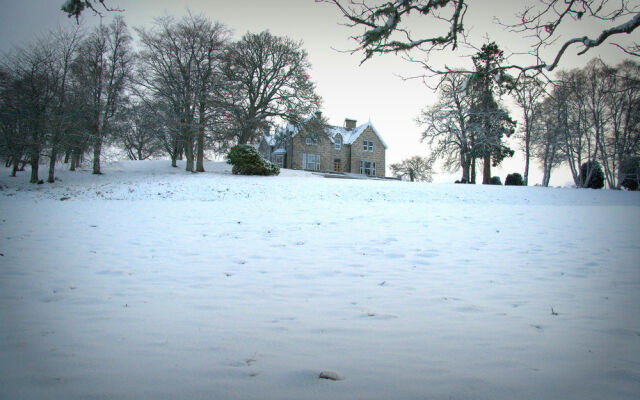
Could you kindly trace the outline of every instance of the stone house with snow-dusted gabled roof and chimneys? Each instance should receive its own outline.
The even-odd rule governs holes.
[[[320,117],[318,112],[305,120],[303,128],[288,124],[275,137],[263,136],[258,151],[283,168],[385,176],[387,144],[371,122],[357,126],[356,120],[345,119],[343,126],[309,124]]]

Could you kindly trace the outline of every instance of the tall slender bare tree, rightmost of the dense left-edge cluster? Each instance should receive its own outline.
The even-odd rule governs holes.
[[[109,26],[100,25],[82,43],[74,63],[76,79],[86,90],[89,105],[93,173],[100,174],[102,145],[110,123],[121,109],[132,65],[131,36],[118,16]]]

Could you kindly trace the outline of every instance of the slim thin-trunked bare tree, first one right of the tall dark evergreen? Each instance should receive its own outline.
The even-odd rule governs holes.
[[[531,142],[534,135],[536,114],[540,112],[540,100],[545,94],[544,83],[535,78],[522,74],[515,82],[511,91],[516,104],[522,110],[522,124],[519,129],[519,137],[522,140],[524,150],[524,177],[525,186],[529,184],[529,161],[531,158]],[[545,169],[546,170],[546,169]]]

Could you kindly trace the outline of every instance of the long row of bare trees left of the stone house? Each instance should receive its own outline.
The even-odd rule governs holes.
[[[48,161],[94,174],[106,145],[133,160],[168,155],[204,171],[204,154],[250,143],[278,118],[320,107],[301,42],[269,31],[232,40],[201,15],[163,17],[131,31],[121,16],[84,32],[59,29],[0,59],[0,154],[12,175]]]

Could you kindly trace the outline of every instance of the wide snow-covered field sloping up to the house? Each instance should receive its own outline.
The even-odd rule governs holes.
[[[206,168],[0,170],[1,399],[639,398],[640,193]]]

